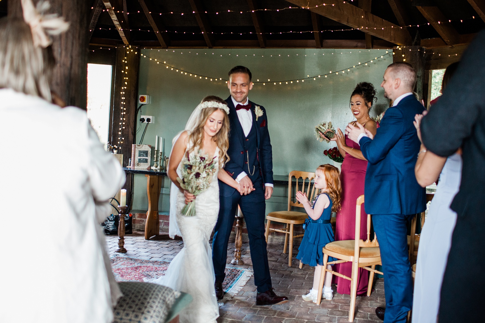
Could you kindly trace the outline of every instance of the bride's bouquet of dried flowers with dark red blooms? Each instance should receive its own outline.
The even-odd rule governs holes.
[[[207,190],[217,171],[215,157],[209,159],[208,155],[202,155],[198,150],[190,155],[187,152],[182,158],[182,167],[180,174],[182,178],[177,178],[180,187],[190,194],[197,196]],[[182,208],[182,214],[185,216],[194,216],[195,201],[189,202]]]

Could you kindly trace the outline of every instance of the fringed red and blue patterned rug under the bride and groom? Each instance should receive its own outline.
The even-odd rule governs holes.
[[[144,281],[165,275],[169,261],[148,260],[113,255],[111,267],[117,281]],[[226,278],[222,284],[226,294],[222,302],[234,297],[253,275],[250,269],[226,268]]]

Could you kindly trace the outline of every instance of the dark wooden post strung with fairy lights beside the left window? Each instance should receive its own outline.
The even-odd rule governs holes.
[[[118,154],[124,155],[123,166],[128,166],[131,158],[131,145],[134,144],[139,68],[139,48],[132,46],[116,48],[108,140],[111,145],[118,147]],[[131,176],[127,177],[124,188],[126,188],[128,196],[131,196]]]

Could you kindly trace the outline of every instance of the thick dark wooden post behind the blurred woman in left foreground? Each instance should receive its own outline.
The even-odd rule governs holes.
[[[70,23],[67,32],[53,37],[52,49],[57,64],[51,90],[67,105],[86,110],[90,3],[85,0],[49,0],[49,3],[49,13],[57,13]],[[8,16],[22,18],[20,0],[9,0],[7,11]]]

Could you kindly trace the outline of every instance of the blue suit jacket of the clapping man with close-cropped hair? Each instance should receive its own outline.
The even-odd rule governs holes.
[[[413,96],[386,110],[374,139],[359,141],[369,161],[365,176],[365,211],[368,214],[416,214],[426,209],[425,189],[416,181],[414,166],[420,140],[414,116],[423,113]]]

